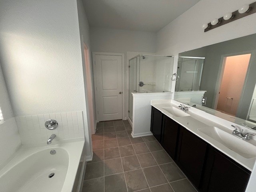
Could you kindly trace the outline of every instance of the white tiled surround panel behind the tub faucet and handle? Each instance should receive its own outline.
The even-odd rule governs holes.
[[[52,134],[56,134],[54,140],[84,138],[82,111],[18,116],[15,119],[23,145],[46,143]],[[44,126],[44,123],[49,119],[54,119],[58,122],[58,127],[55,130],[48,130]]]

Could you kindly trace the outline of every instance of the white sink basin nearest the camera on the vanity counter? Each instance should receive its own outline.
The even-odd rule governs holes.
[[[256,146],[245,140],[237,138],[230,130],[228,130],[230,131],[229,133],[217,127],[206,127],[199,128],[198,131],[206,134],[210,138],[213,138],[244,158],[256,157]]]

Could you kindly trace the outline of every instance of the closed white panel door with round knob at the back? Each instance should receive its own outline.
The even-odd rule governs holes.
[[[98,120],[122,119],[122,56],[95,55]]]

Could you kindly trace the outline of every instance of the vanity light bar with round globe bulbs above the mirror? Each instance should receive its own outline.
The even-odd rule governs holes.
[[[238,20],[253,13],[256,13],[256,2],[251,4],[244,4],[243,6],[241,6],[240,9],[232,13],[228,12],[224,14],[224,16],[221,18],[215,18],[210,23],[203,24],[202,29],[204,29],[204,32],[207,32],[209,30],[212,30],[234,20]]]

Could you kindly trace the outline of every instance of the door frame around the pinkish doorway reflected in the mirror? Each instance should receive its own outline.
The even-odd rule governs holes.
[[[215,93],[214,93],[214,97],[213,97],[213,109],[214,110],[216,110],[217,105],[218,105],[220,86],[221,86],[221,82],[222,82],[222,78],[223,78],[223,74],[224,74],[226,58],[230,57],[230,56],[237,56],[237,55],[244,55],[244,54],[251,54],[249,64],[248,64],[248,68],[247,68],[247,71],[246,71],[246,76],[245,76],[245,79],[244,79],[244,85],[245,85],[246,82],[247,82],[247,79],[248,79],[248,71],[250,70],[250,66],[251,66],[251,63],[252,63],[253,51],[242,51],[242,52],[236,52],[236,53],[229,53],[229,54],[223,54],[221,56],[221,59],[220,59],[220,64],[221,65],[219,67],[217,83],[216,83],[216,86],[215,86]],[[241,107],[241,100],[244,98],[244,89],[245,89],[245,87],[243,86],[242,94],[241,94],[240,101],[239,101],[239,104],[238,104],[238,107],[237,107],[238,109]]]

